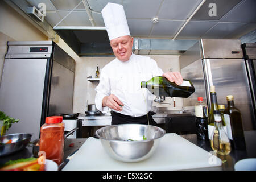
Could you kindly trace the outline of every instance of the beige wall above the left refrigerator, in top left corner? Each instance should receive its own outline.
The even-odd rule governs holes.
[[[48,40],[48,38],[6,2],[0,1],[0,82],[7,41],[31,40]]]

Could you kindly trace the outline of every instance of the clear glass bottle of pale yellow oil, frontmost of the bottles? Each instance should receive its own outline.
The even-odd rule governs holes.
[[[226,134],[219,110],[214,110],[214,129],[210,137],[212,150],[220,155],[228,155],[231,152],[230,140]]]

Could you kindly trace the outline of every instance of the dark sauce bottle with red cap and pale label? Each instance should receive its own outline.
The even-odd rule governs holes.
[[[203,102],[203,97],[197,97],[195,105],[196,115],[196,135],[198,139],[208,140],[208,109],[207,105]]]

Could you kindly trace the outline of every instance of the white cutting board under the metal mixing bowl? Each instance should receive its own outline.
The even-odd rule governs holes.
[[[215,166],[221,166],[220,158],[175,133],[167,133],[150,158],[136,163],[119,162],[110,158],[100,140],[89,137],[63,170],[165,171]]]

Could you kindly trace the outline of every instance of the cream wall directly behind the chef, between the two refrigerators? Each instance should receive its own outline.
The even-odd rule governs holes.
[[[170,71],[180,71],[179,67],[179,56],[176,55],[146,55],[150,56],[152,59],[156,60],[158,67],[162,68],[163,72]],[[76,59],[76,72],[75,72],[75,88],[73,97],[73,113],[85,111],[85,101],[88,100],[88,104],[94,104],[94,98],[96,91],[94,90],[98,85],[97,82],[87,81],[88,76],[95,77],[95,71],[97,64],[101,69],[104,65],[112,61],[114,57],[81,57]],[[176,107],[183,106],[182,98],[175,98]],[[156,107],[171,107],[173,109],[173,100],[171,98],[166,98],[167,104],[154,103],[153,106]]]

